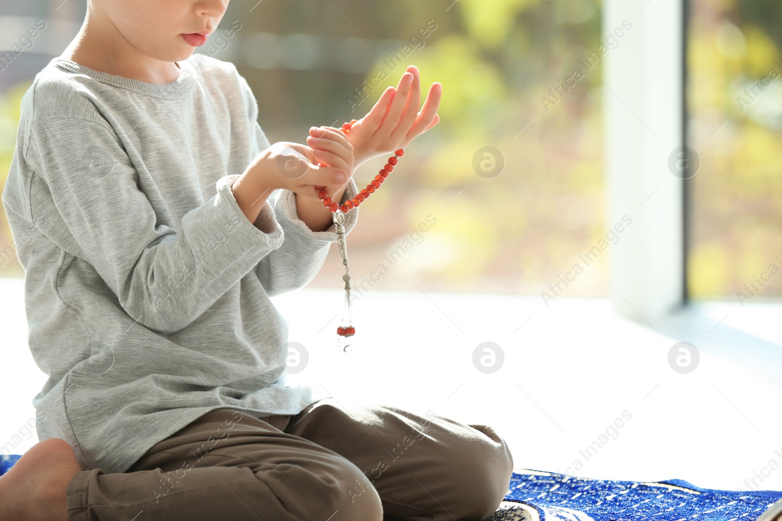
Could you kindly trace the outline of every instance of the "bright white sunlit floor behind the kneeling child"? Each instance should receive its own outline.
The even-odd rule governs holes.
[[[0,448],[27,436],[17,453],[37,441],[24,425],[45,381],[27,349],[22,290],[21,280],[0,279]],[[309,354],[294,377],[340,401],[490,424],[518,468],[782,490],[782,331],[772,305],[702,305],[655,331],[599,300],[546,308],[536,297],[375,291],[356,303],[354,351],[343,354],[334,351],[343,293],[301,290],[274,302],[290,341]],[[485,341],[504,352],[496,373],[473,365]],[[692,373],[669,366],[678,341],[700,351]],[[623,412],[630,419],[612,430]]]

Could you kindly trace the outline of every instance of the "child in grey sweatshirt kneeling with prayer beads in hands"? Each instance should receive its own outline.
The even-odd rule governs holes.
[[[358,165],[439,121],[441,87],[418,112],[411,66],[350,139],[271,145],[235,66],[192,54],[227,5],[89,0],[23,98],[2,202],[33,237],[17,253],[48,381],[0,521],[485,519],[513,466],[494,430],[286,385],[269,299],[336,241],[317,187],[353,198]]]

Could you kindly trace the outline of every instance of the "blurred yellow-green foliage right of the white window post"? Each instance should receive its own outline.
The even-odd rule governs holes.
[[[779,296],[782,277],[769,272],[782,269],[782,5],[693,0],[691,9],[688,140],[701,169],[689,291],[744,302]]]

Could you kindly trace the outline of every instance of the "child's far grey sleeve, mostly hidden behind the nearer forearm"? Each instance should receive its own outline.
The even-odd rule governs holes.
[[[357,191],[351,177],[340,204],[355,197]],[[334,223],[325,231],[310,230],[296,213],[296,198],[292,191],[278,190],[269,199],[284,231],[285,240],[279,248],[258,262],[255,273],[271,297],[309,284],[323,266],[332,242],[337,241],[337,232]],[[356,225],[358,212],[357,208],[347,212],[343,223],[346,237]],[[262,226],[260,217],[256,220],[256,226]]]

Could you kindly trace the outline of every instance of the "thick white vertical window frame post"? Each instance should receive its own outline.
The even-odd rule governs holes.
[[[620,316],[652,328],[688,297],[688,183],[668,166],[685,144],[686,1],[603,6],[604,39],[632,23],[604,61],[606,226],[633,219],[612,245],[608,292]]]

